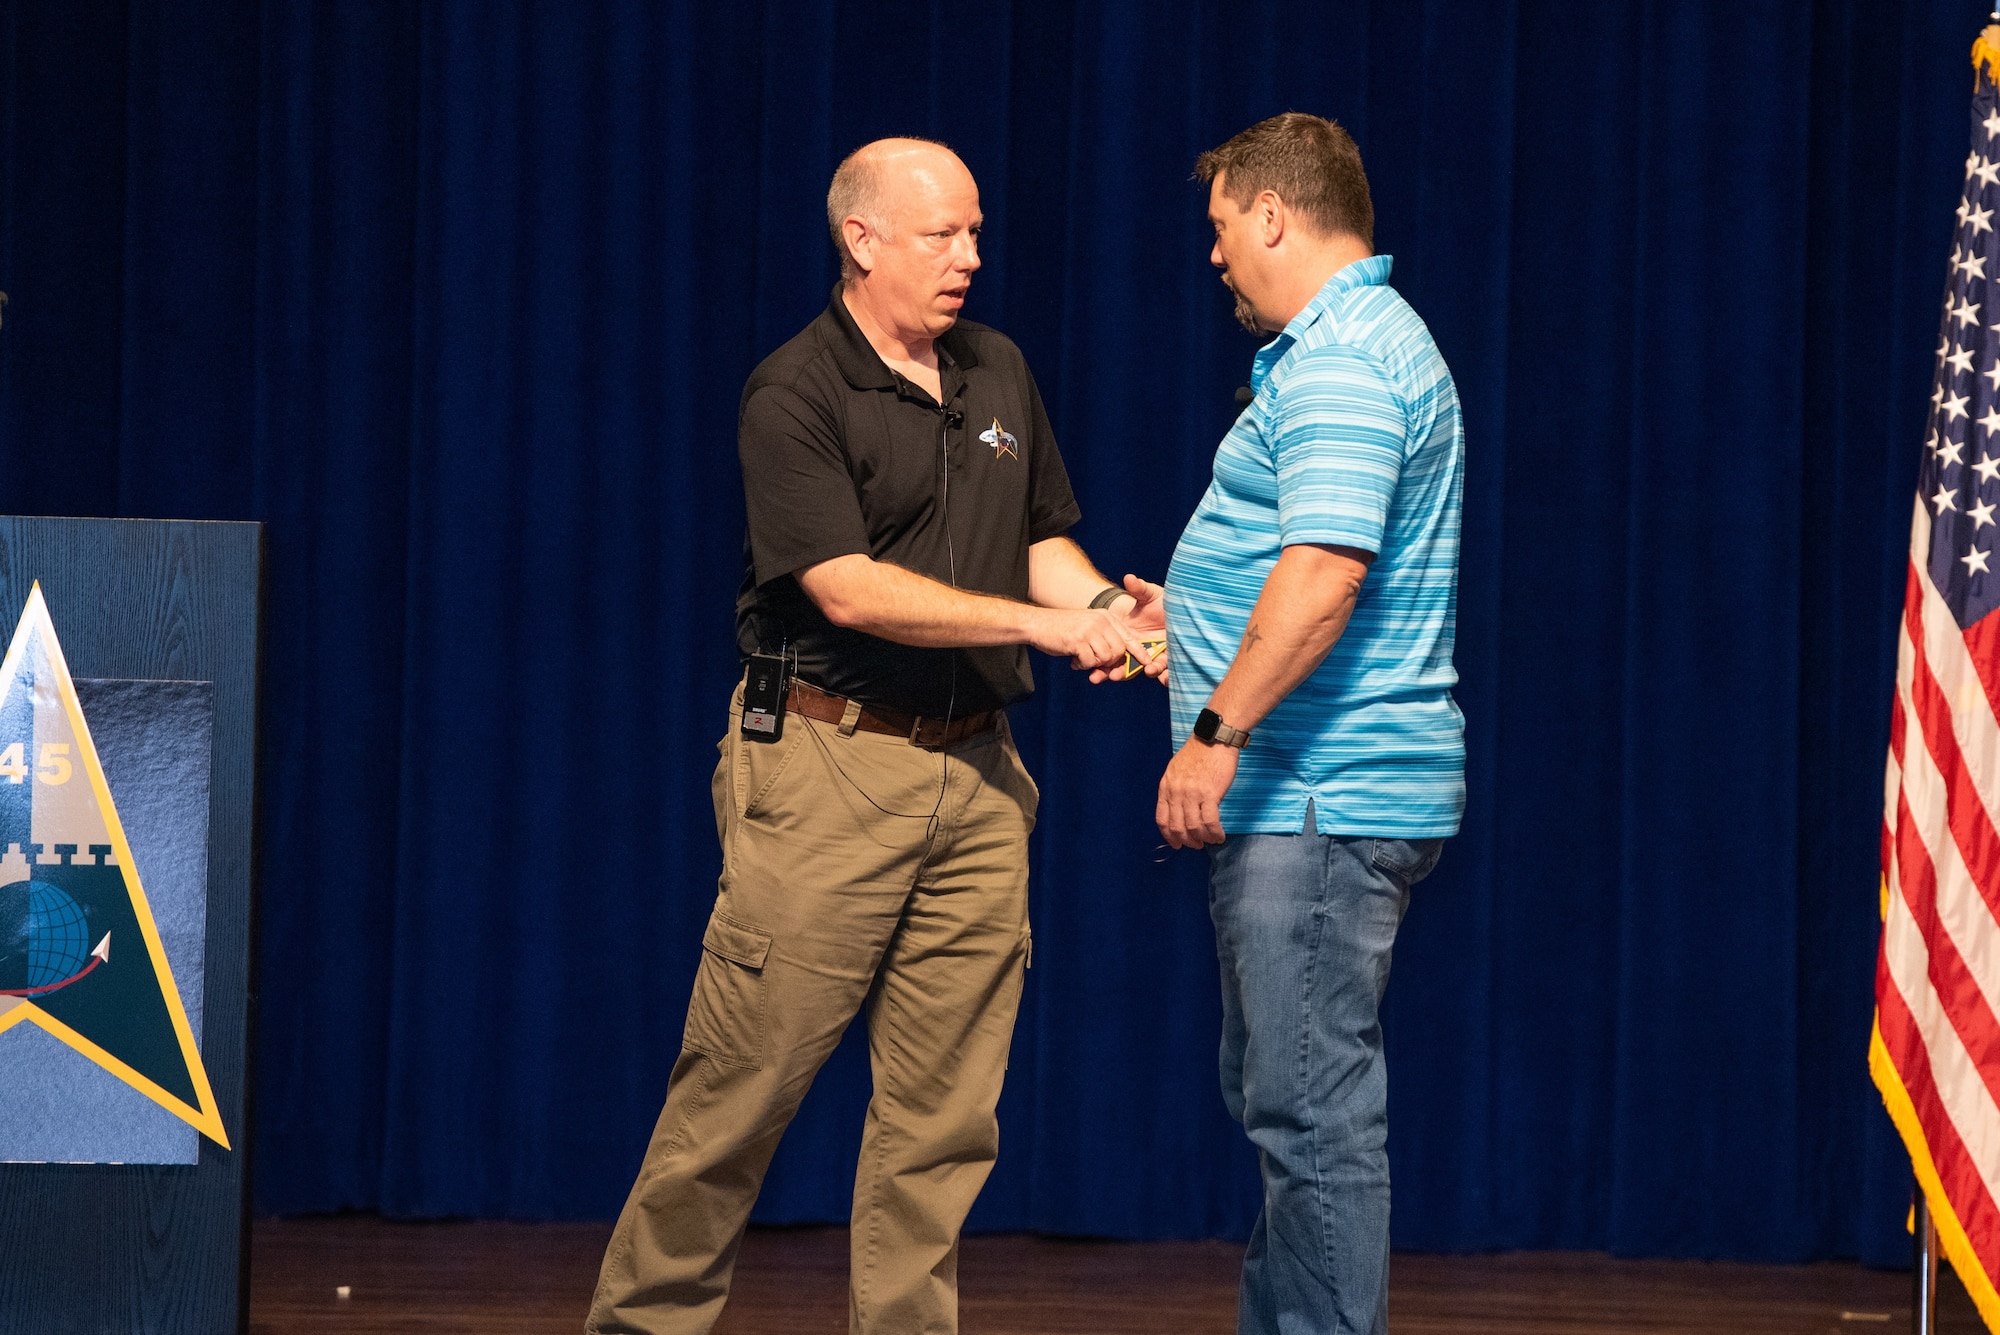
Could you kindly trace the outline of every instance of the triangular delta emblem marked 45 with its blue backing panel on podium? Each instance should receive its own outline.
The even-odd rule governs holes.
[[[72,679],[36,584],[0,662],[0,1161],[228,1149],[200,1053],[212,721],[208,681]]]

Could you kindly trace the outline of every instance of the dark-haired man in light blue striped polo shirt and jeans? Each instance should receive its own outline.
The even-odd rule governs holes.
[[[1274,116],[1196,176],[1238,320],[1276,334],[1166,580],[1158,821],[1210,849],[1222,1095],[1264,1173],[1238,1329],[1386,1335],[1378,1007],[1464,807],[1458,392],[1340,126]]]

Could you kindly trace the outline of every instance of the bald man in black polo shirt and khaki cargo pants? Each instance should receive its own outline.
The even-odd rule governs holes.
[[[814,1073],[866,1005],[850,1329],[958,1329],[958,1229],[1028,963],[1026,646],[1160,675],[1160,588],[1110,584],[1020,350],[960,320],[980,194],[880,140],[826,196],[840,284],[738,414],[746,685],[712,783],[722,881],[680,1061],[586,1331],[694,1335]],[[746,699],[748,691],[748,699]],[[782,701],[782,709],[776,703]]]

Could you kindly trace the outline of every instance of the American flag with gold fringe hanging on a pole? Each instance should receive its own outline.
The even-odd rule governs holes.
[[[1940,1247],[2000,1331],[2000,26],[1972,66],[1910,520],[1868,1065]]]

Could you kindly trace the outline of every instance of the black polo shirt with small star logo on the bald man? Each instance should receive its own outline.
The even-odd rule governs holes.
[[[944,402],[876,356],[840,288],[744,386],[748,532],[736,598],[744,654],[868,705],[942,717],[1034,689],[1022,646],[916,650],[842,630],[796,572],[866,554],[962,590],[1028,600],[1028,546],[1078,520],[1042,394],[1004,334],[960,320],[938,340]]]

